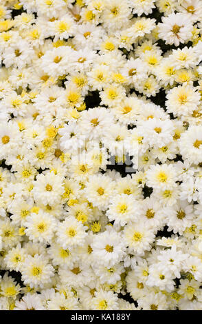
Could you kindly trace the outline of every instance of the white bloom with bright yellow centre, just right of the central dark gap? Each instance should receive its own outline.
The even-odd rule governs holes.
[[[146,172],[146,184],[155,190],[172,190],[177,186],[177,170],[173,165],[150,165]]]

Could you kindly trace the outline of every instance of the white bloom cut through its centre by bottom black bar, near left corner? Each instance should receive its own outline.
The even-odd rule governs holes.
[[[45,310],[38,294],[26,294],[20,301],[16,301],[14,310]]]

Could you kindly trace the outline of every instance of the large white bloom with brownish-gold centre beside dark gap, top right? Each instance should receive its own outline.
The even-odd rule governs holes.
[[[166,44],[188,43],[192,37],[192,23],[186,14],[174,12],[168,17],[161,18],[159,23],[159,37],[166,41]]]

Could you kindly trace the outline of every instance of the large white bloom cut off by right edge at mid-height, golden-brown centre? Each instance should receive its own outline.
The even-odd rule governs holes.
[[[201,163],[201,144],[201,126],[190,126],[179,139],[179,150],[183,159],[188,159],[190,163]]]

